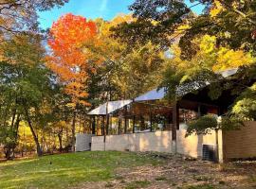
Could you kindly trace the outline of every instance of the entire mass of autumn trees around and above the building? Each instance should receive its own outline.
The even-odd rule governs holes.
[[[8,159],[18,147],[38,155],[68,151],[76,133],[92,130],[87,112],[157,87],[166,89],[169,103],[206,83],[211,99],[225,90],[235,96],[221,124],[205,115],[189,124],[188,134],[256,119],[254,1],[191,0],[189,7],[180,0],[136,0],[132,14],[105,21],[68,13],[43,32],[38,11],[66,2],[0,3],[0,143]],[[198,5],[205,9],[196,15]],[[234,68],[235,75],[222,77]]]

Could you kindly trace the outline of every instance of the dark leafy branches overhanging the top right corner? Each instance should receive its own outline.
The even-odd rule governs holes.
[[[219,45],[232,49],[243,48],[255,52],[255,3],[238,0],[191,0],[192,7],[202,4],[204,12],[195,15],[184,1],[137,0],[130,9],[137,18],[116,28],[117,36],[130,45],[157,43],[163,48],[180,36],[179,46],[183,59],[191,59],[196,53],[193,39],[202,35],[215,36]],[[187,28],[179,26],[188,25]],[[175,36],[175,34],[178,34]]]

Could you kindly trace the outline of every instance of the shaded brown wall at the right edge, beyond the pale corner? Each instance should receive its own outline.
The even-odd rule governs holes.
[[[223,155],[230,159],[256,158],[256,122],[247,122],[240,130],[223,131]]]

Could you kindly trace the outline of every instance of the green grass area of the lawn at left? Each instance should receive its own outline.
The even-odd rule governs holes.
[[[131,152],[81,152],[0,163],[0,188],[68,188],[115,178],[117,168],[158,164]],[[142,184],[143,185],[143,184]]]

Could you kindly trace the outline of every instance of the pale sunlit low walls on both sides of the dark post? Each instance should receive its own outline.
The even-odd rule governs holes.
[[[202,146],[216,146],[216,133],[209,135],[192,135],[185,137],[186,129],[177,130],[176,144],[172,142],[172,131],[156,131],[123,135],[106,136],[105,150],[130,150],[130,151],[159,151],[176,152],[192,156],[202,157]],[[219,149],[222,150],[222,137],[219,133]],[[103,136],[92,137],[92,150],[104,150]],[[220,152],[219,152],[220,153]]]

